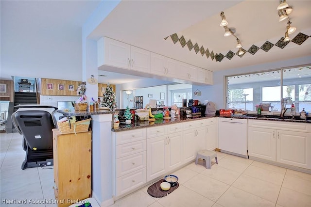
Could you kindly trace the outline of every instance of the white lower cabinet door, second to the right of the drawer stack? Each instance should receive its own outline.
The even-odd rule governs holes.
[[[166,145],[166,171],[171,171],[183,163],[183,135],[182,132],[173,133],[167,136]]]

